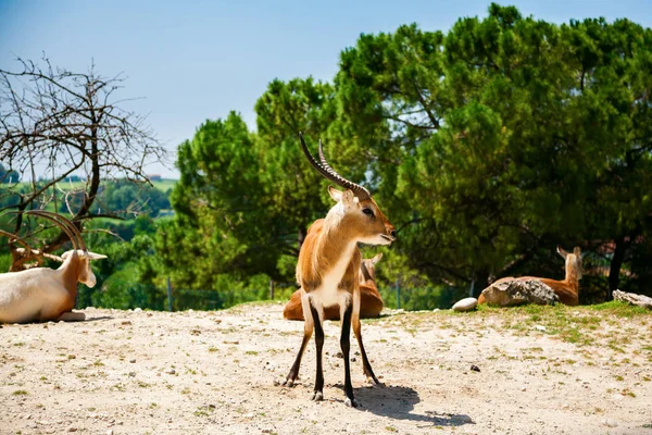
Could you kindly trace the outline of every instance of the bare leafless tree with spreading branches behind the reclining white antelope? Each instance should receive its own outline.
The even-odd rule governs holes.
[[[29,183],[2,185],[0,213],[52,202],[57,210],[57,184],[82,173],[83,200],[74,210],[67,204],[71,221],[82,229],[83,222],[113,216],[92,212],[100,183],[118,176],[150,183],[145,166],[166,158],[146,116],[121,108],[133,100],[117,98],[124,75],[102,77],[95,64],[88,73],[74,73],[53,67],[46,58],[42,67],[20,58],[16,62],[18,71],[0,69],[0,162]],[[17,235],[22,216],[11,225]],[[52,252],[66,241],[60,232],[42,251]],[[10,249],[15,262],[16,247],[10,244]]]

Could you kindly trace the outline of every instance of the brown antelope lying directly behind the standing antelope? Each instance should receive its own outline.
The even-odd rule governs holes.
[[[314,227],[322,226],[323,219],[316,221],[309,229],[309,234]],[[375,266],[383,258],[383,252],[371,259],[363,259],[360,262],[360,319],[374,319],[380,315],[383,311],[383,298],[376,286]],[[301,289],[294,291],[283,310],[283,316],[287,320],[304,320],[303,309],[301,308]],[[339,320],[339,307],[324,307],[324,320]]]

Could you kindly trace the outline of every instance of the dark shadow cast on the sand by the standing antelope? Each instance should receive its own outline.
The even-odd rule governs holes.
[[[425,414],[413,413],[414,406],[421,401],[418,393],[412,388],[400,386],[380,386],[355,388],[355,399],[360,409],[376,415],[397,420],[429,423],[432,426],[463,426],[474,424],[467,414],[439,413],[426,411]]]

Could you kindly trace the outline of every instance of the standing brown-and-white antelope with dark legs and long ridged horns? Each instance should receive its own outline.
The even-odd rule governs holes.
[[[299,252],[297,281],[301,286],[301,307],[305,319],[303,339],[290,373],[283,384],[292,386],[297,380],[301,357],[314,328],[317,370],[312,399],[315,401],[324,399],[322,370],[324,308],[339,306],[340,346],[344,361],[344,403],[356,407],[349,359],[351,324],[360,346],[364,373],[373,383],[379,384],[362,344],[359,278],[362,256],[358,243],[389,245],[396,239],[397,231],[385,217],[367,189],[349,182],[330,167],[324,157],[321,140],[321,162],[317,162],[308,150],[301,134],[300,139],[303,152],[313,167],[346,190],[328,187],[330,197],[337,203],[328,211],[323,224],[309,232]]]

